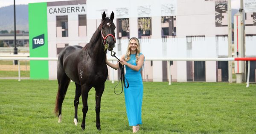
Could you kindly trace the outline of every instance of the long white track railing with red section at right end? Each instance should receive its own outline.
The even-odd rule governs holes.
[[[0,60],[18,60],[18,81],[20,81],[20,61],[19,60],[55,60],[57,61],[57,57],[16,57],[17,55],[12,57],[1,57],[0,55]],[[112,63],[116,58],[114,57],[108,57],[108,60],[111,60]],[[221,58],[171,58],[171,57],[166,57],[166,58],[146,58],[145,60],[154,60],[154,61],[236,61],[236,60],[242,60],[242,61],[248,61],[248,72],[247,72],[247,85],[246,87],[249,87],[249,77],[250,77],[250,61],[256,60],[256,57],[245,57],[245,58],[233,58],[233,57],[221,57]],[[170,62],[168,62],[170,66]],[[169,68],[169,85],[172,84],[172,76],[171,76],[171,69]],[[112,73],[113,74],[113,73]],[[112,77],[112,83],[113,83],[113,77]]]

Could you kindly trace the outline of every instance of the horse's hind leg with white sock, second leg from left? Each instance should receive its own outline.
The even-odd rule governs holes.
[[[81,85],[76,84],[76,96],[74,100],[74,106],[75,106],[75,119],[74,119],[74,124],[77,126],[78,123],[78,117],[77,117],[77,107],[79,104],[79,97],[81,96]]]

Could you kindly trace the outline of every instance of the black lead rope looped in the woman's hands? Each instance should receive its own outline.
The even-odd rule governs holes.
[[[112,54],[112,52],[113,52],[114,54]],[[116,57],[116,52],[111,51],[111,56],[112,56],[112,57],[115,57],[118,61],[120,61],[120,60]],[[124,86],[125,86],[125,80],[126,80],[127,86],[125,86],[125,88],[128,88],[128,87],[129,87],[129,83],[128,83],[128,80],[125,78],[125,66],[124,66],[124,65],[121,65],[120,63],[118,63],[118,64],[119,64],[119,68],[120,68],[120,71],[121,71],[121,77],[120,77],[119,82],[121,81],[121,85],[123,85],[123,83],[124,83]],[[119,84],[119,82],[116,84],[116,86]],[[116,86],[115,86],[115,88],[116,88]],[[114,93],[116,94],[115,88],[114,88]],[[122,91],[123,91],[123,86],[122,86]],[[122,93],[122,91],[121,91],[121,93]],[[120,93],[120,94],[121,94],[121,93]],[[119,94],[116,94],[116,95],[119,95]]]

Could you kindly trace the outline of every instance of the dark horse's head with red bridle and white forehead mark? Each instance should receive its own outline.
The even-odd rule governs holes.
[[[101,29],[101,34],[102,34],[102,40],[103,40],[103,45],[105,46],[105,49],[108,49],[109,51],[112,51],[113,48],[115,47],[116,43],[116,38],[115,38],[115,29],[116,26],[113,23],[114,19],[114,13],[112,11],[110,18],[106,17],[105,11],[102,14],[102,29]],[[106,50],[105,50],[106,51]]]

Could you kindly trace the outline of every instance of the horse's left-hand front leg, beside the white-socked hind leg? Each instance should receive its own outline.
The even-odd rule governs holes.
[[[87,99],[88,99],[88,92],[90,91],[89,86],[87,86],[86,84],[81,86],[82,90],[81,90],[81,95],[82,95],[82,101],[83,101],[83,120],[81,123],[81,127],[82,130],[85,129],[85,117],[86,117],[86,113],[88,111],[88,103],[87,103]]]

